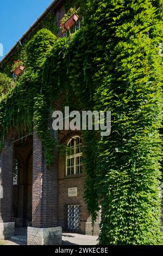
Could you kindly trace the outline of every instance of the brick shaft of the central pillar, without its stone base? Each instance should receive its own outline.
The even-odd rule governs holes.
[[[52,120],[49,118],[49,127]],[[57,133],[52,131],[57,139]],[[33,203],[32,226],[36,228],[57,227],[58,225],[58,152],[51,168],[46,167],[42,152],[42,142],[33,135]]]

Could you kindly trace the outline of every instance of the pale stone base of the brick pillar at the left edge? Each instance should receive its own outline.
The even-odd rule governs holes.
[[[7,239],[15,235],[15,222],[0,223],[0,239]]]

